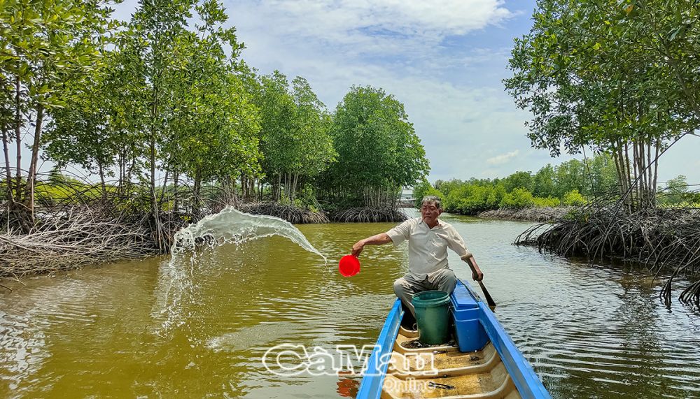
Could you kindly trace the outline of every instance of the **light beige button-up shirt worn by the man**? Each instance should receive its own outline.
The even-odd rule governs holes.
[[[386,234],[394,245],[408,240],[408,272],[417,280],[425,280],[430,273],[447,267],[448,247],[462,259],[471,256],[461,235],[440,219],[433,228],[421,217],[408,219]]]

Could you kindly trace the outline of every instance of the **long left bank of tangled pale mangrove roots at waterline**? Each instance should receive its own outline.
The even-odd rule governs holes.
[[[210,204],[200,212],[160,212],[158,222],[144,210],[125,211],[112,201],[92,205],[38,208],[34,226],[0,231],[0,278],[55,273],[169,253],[174,235],[225,208]],[[332,222],[401,222],[404,212],[391,208],[350,208],[323,212],[274,202],[234,202],[251,215],[279,217],[292,224]],[[3,220],[8,212],[0,212]],[[158,223],[158,226],[156,225]]]

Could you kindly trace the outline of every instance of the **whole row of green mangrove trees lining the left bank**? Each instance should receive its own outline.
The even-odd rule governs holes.
[[[31,208],[40,148],[58,168],[78,166],[100,184],[80,187],[57,169],[34,184],[36,198],[67,201],[63,187],[76,187],[85,192],[74,200],[99,192],[102,201],[116,190],[120,210],[152,213],[155,235],[160,211],[200,212],[202,201],[221,203],[222,192],[231,201],[239,187],[246,199],[312,210],[316,195],[330,206],[395,205],[428,172],[393,96],[352,87],[330,113],[306,79],[258,75],[239,59],[243,44],[220,1],[144,0],[127,23],[109,20],[110,3],[0,7],[3,143],[36,138],[29,179],[10,173],[19,156],[4,159],[0,194],[18,208]]]

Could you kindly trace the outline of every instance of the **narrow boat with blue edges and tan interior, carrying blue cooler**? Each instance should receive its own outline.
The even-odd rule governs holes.
[[[549,398],[486,303],[458,283],[451,295],[456,344],[418,347],[396,300],[367,361],[358,399]]]

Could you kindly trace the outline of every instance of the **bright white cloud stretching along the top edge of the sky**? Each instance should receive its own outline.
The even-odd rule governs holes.
[[[228,1],[233,23],[282,43],[342,48],[346,55],[420,55],[446,36],[512,17],[501,0]]]

